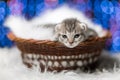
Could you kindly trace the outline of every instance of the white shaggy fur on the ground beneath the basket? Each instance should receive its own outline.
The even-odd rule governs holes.
[[[104,52],[108,53],[108,52]],[[107,55],[106,58],[109,56]],[[112,56],[120,59],[120,54]],[[112,58],[110,58],[112,60]],[[111,61],[104,59],[104,67],[112,65]],[[110,66],[109,66],[110,67]],[[113,68],[113,71],[83,73],[83,72],[44,72],[37,69],[28,69],[23,63],[20,51],[17,48],[0,48],[0,80],[120,80],[120,68]]]

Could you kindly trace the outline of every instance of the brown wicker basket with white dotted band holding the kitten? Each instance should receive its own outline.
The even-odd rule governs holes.
[[[101,38],[91,37],[75,48],[67,48],[59,42],[48,40],[22,39],[12,32],[8,38],[17,44],[23,63],[28,67],[37,66],[41,71],[61,71],[78,69],[96,62],[110,33],[107,32]]]

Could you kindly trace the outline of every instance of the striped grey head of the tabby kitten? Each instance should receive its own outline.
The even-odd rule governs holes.
[[[69,48],[76,47],[86,39],[87,25],[77,19],[66,19],[56,25],[55,32],[59,35],[58,40]]]

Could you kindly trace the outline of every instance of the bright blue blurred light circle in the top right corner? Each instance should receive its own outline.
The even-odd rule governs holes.
[[[109,0],[103,0],[100,6],[102,11],[106,14],[111,14],[114,12],[114,6]]]

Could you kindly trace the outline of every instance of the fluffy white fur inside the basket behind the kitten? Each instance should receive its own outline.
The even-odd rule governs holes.
[[[47,23],[60,23],[66,18],[77,18],[79,21],[86,23],[89,28],[94,29],[100,37],[105,35],[105,32],[100,25],[94,24],[82,12],[71,9],[67,5],[55,10],[47,10],[43,12],[41,16],[37,16],[30,21],[22,16],[9,16],[4,25],[8,26],[17,37],[25,39],[32,38],[36,40],[51,40],[53,30],[37,26]]]

